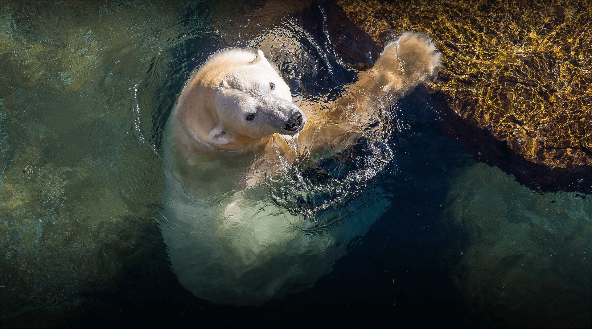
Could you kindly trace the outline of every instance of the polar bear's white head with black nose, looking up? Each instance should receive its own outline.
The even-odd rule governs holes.
[[[292,103],[292,93],[278,72],[258,51],[253,62],[228,73],[215,93],[220,122],[208,134],[214,144],[227,144],[233,134],[263,138],[278,133],[294,136],[306,123]]]

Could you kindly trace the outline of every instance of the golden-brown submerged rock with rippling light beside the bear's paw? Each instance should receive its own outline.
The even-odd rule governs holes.
[[[338,2],[374,41],[425,31],[444,57],[442,128],[530,188],[590,192],[592,5]]]

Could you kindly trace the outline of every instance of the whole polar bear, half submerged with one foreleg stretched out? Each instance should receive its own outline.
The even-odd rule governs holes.
[[[287,204],[310,208],[297,186],[302,179],[282,175],[300,176],[299,169],[380,130],[377,99],[400,98],[439,65],[430,40],[406,33],[328,107],[297,107],[262,51],[210,56],[181,92],[163,143],[161,229],[179,282],[195,296],[234,305],[313,285],[389,202],[369,185],[367,197],[340,207],[295,211]],[[279,190],[283,201],[274,198]]]

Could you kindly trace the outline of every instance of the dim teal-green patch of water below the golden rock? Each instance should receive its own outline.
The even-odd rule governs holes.
[[[459,170],[450,185],[445,214],[469,234],[456,273],[469,306],[521,325],[589,321],[589,195],[533,192],[484,163]]]

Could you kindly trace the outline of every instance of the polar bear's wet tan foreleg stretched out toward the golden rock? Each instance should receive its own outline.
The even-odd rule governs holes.
[[[381,131],[381,108],[432,79],[442,65],[441,57],[425,34],[401,34],[385,46],[372,69],[359,72],[358,81],[346,86],[338,99],[327,102],[329,106],[303,108],[308,123],[300,133],[300,144],[311,153],[337,153],[360,136],[376,136]]]

